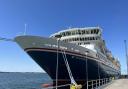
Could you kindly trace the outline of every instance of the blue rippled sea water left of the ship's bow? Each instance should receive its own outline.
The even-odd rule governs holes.
[[[0,73],[0,89],[43,89],[43,83],[52,83],[45,73]]]

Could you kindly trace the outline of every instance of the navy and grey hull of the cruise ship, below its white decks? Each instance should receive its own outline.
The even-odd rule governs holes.
[[[54,39],[36,36],[19,36],[15,40],[28,53],[28,55],[30,55],[32,59],[36,63],[38,63],[41,66],[41,68],[46,71],[46,73],[48,73],[48,75],[53,79],[53,85],[55,85],[57,64],[57,41]],[[53,46],[50,47],[49,44],[52,44]],[[59,85],[70,84],[69,74],[63,59],[64,51],[75,81],[78,84],[82,84],[84,86],[82,89],[85,89],[87,75],[88,80],[119,76],[119,71],[116,71],[111,67],[105,65],[105,63],[99,61],[98,58],[89,55],[91,51],[89,51],[88,49],[85,49],[85,51],[88,52],[88,54],[82,54],[78,51],[68,50],[68,47],[66,48],[67,45],[62,44],[65,43],[60,42],[61,48],[59,48],[58,50]],[[69,44],[69,46],[70,45],[72,44]]]

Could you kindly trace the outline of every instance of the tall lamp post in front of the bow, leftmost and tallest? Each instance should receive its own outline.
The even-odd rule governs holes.
[[[57,60],[56,60],[56,89],[58,88],[58,63],[59,63],[59,41],[61,39],[61,35],[56,35],[57,38]]]

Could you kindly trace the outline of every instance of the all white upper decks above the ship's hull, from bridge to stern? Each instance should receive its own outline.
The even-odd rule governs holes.
[[[105,45],[100,27],[69,28],[52,34],[51,38],[61,35],[61,41],[73,43],[97,53],[97,56],[105,60],[109,65],[120,70],[119,59],[115,58]]]

